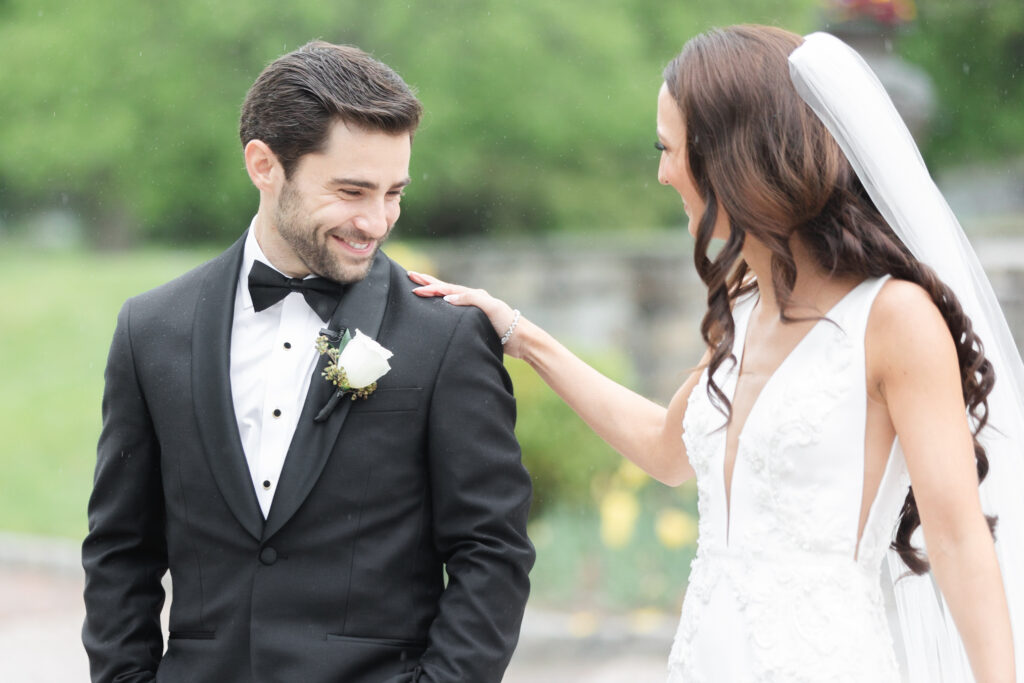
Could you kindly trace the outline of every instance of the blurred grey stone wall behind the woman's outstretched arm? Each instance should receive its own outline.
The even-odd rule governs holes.
[[[1020,346],[1024,238],[974,240]],[[438,276],[481,287],[577,352],[626,354],[631,387],[667,402],[702,354],[706,290],[682,230],[620,242],[429,243]]]

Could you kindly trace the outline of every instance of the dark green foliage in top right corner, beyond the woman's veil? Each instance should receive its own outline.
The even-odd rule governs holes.
[[[1024,3],[922,1],[919,10],[899,47],[939,99],[926,157],[948,166],[1024,154]]]

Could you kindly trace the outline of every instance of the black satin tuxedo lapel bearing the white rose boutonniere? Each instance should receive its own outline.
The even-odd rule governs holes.
[[[378,253],[370,273],[358,283],[351,285],[342,296],[334,315],[331,316],[332,330],[349,330],[352,335],[359,330],[377,338],[384,312],[387,309],[388,292],[391,284],[391,261],[383,253]],[[325,380],[323,372],[327,356],[321,358],[309,381],[309,390],[299,416],[299,424],[285,458],[278,490],[263,529],[263,540],[276,533],[291,519],[295,511],[309,495],[310,489],[327,464],[328,457],[338,440],[352,401],[345,397],[333,413],[323,422],[313,418],[330,400],[334,385]],[[369,400],[373,400],[371,396]],[[248,481],[248,478],[247,478]]]

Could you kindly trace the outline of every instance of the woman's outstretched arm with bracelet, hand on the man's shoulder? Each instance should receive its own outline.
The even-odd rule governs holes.
[[[423,285],[414,290],[420,296],[444,296],[457,306],[477,306],[500,336],[512,324],[508,304],[483,290],[450,285],[422,273],[410,273],[410,279]],[[597,372],[524,317],[518,318],[505,352],[528,362],[598,436],[655,479],[675,486],[693,476],[682,425],[699,370],[690,374],[665,409]]]

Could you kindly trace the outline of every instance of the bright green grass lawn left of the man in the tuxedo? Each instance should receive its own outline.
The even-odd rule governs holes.
[[[103,367],[126,298],[211,252],[38,251],[0,243],[0,527],[81,538]]]

